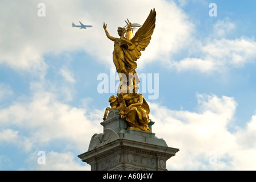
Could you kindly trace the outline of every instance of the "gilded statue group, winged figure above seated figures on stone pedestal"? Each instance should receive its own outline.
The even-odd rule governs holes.
[[[137,68],[135,61],[150,43],[155,28],[155,16],[156,12],[153,9],[142,26],[130,23],[127,19],[125,27],[118,27],[120,38],[111,36],[107,31],[107,24],[103,23],[107,38],[114,42],[113,62],[120,78],[117,97],[110,97],[111,108],[107,107],[103,119],[106,119],[107,111],[116,109],[129,123],[129,128],[149,132],[151,132],[148,127],[150,109],[142,94],[137,93],[139,78],[135,71]],[[139,29],[133,35],[135,27]]]

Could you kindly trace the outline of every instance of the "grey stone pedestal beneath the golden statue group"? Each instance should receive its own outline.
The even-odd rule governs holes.
[[[94,134],[88,151],[78,157],[90,164],[92,171],[166,170],[166,160],[179,149],[168,147],[154,133],[127,130],[125,118],[117,113],[109,111],[101,123],[103,134]],[[149,123],[150,129],[153,124]]]

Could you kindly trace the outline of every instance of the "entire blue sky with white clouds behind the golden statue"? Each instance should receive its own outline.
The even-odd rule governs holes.
[[[217,16],[209,16],[210,3]],[[254,1],[0,4],[1,170],[90,170],[77,155],[103,132],[99,123],[115,95],[97,89],[97,77],[114,69],[103,22],[117,37],[126,18],[142,24],[153,7],[156,27],[137,72],[159,74],[158,98],[149,100],[148,89],[143,96],[153,133],[180,149],[167,169],[256,169]],[[71,27],[79,20],[93,27]],[[46,164],[38,163],[39,151]]]

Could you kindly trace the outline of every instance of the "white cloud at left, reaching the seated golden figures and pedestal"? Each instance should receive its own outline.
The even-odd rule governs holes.
[[[26,143],[33,145],[29,147],[36,149],[39,145],[61,139],[66,140],[63,148],[82,151],[89,145],[88,138],[99,132],[100,129],[94,123],[101,121],[102,113],[97,110],[87,113],[85,109],[62,104],[51,93],[38,91],[29,102],[16,102],[0,110],[2,126],[15,126],[27,132],[18,137],[18,131],[7,129],[1,136],[10,134],[13,140],[16,139],[15,142],[19,138],[26,138]]]

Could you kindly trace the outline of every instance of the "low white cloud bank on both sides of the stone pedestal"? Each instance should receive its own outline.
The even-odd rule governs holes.
[[[245,129],[237,127],[237,131],[231,133],[229,127],[234,125],[237,106],[234,98],[214,94],[197,94],[197,98],[197,110],[193,112],[149,104],[150,118],[155,121],[153,132],[158,138],[165,139],[170,147],[180,149],[176,156],[167,160],[167,168],[255,169],[252,159],[256,152],[253,144],[256,117],[252,117]],[[23,150],[26,148],[26,152],[58,145],[65,151],[46,151],[45,166],[38,165],[38,156],[31,153],[31,158],[27,159],[31,168],[87,170],[88,165],[75,162],[78,154],[74,155],[74,151],[79,154],[86,152],[91,136],[102,133],[103,128],[99,123],[103,110],[88,113],[86,107],[79,109],[63,104],[53,93],[38,88],[29,101],[15,102],[0,110],[1,125],[6,128],[0,133],[0,141],[19,143]],[[216,158],[216,163],[210,162],[212,158],[214,161]],[[70,167],[67,167],[68,164]]]

